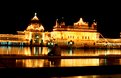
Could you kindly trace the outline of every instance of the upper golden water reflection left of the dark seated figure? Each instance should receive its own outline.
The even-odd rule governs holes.
[[[0,47],[0,55],[45,55],[48,53],[47,47]]]

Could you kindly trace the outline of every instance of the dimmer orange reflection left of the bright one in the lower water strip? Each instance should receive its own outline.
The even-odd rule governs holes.
[[[16,60],[16,67],[60,67],[60,63],[61,59],[24,59]]]

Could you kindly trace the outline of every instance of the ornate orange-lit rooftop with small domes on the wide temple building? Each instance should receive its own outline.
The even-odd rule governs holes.
[[[73,26],[65,26],[65,22],[59,24],[57,19],[53,31],[97,31],[96,27],[97,23],[95,21],[90,27],[88,22],[84,22],[82,18],[75,22]]]

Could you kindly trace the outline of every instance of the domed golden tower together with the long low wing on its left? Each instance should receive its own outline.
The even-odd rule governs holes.
[[[0,34],[1,45],[42,45],[49,40],[49,32],[44,32],[37,14],[31,19],[26,30],[17,31],[17,34]]]

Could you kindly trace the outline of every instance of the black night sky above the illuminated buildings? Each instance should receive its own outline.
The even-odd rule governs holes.
[[[4,1],[0,5],[0,33],[16,34],[29,25],[37,13],[45,31],[51,31],[55,20],[64,17],[72,25],[80,17],[85,22],[97,21],[97,30],[104,37],[118,38],[121,31],[121,13],[118,2],[95,1]]]

